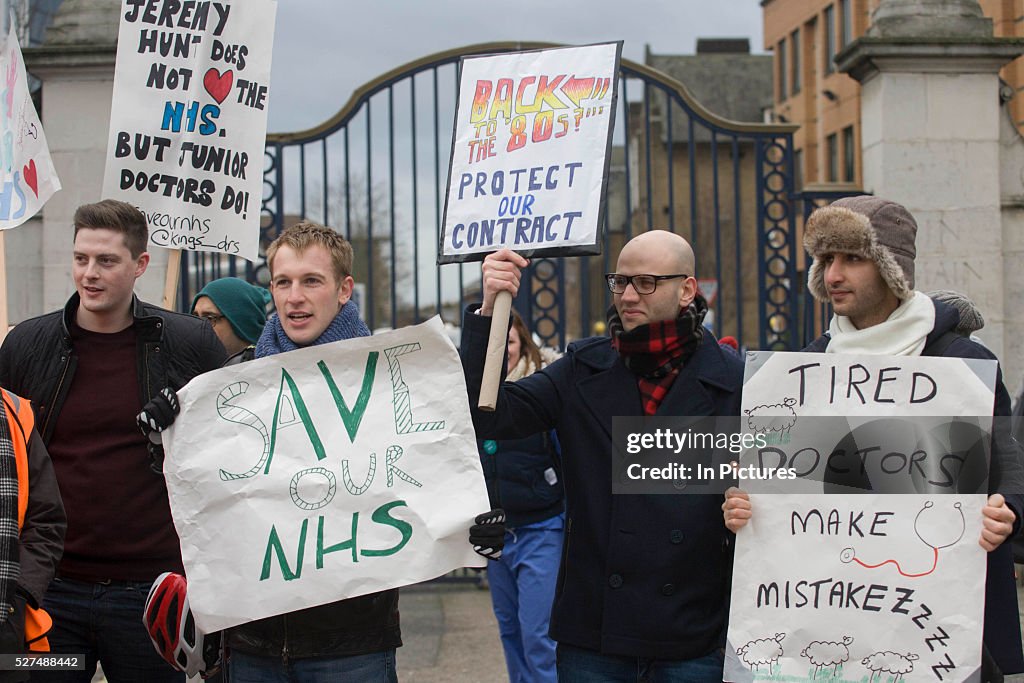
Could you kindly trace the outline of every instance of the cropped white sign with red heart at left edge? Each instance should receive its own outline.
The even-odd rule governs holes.
[[[0,148],[3,150],[4,175],[0,188],[0,229],[7,229],[17,227],[39,213],[53,193],[60,189],[60,180],[50,161],[46,135],[29,93],[25,59],[13,22],[4,42],[2,58]]]

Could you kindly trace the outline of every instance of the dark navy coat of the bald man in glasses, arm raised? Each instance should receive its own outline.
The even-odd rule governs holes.
[[[466,314],[462,360],[482,438],[555,429],[565,481],[565,539],[551,637],[603,654],[705,656],[725,641],[732,535],[722,496],[611,495],[613,416],[640,416],[637,376],[607,337],[505,382],[494,413],[476,409],[490,318]],[[738,415],[743,364],[708,333],[658,416]]]

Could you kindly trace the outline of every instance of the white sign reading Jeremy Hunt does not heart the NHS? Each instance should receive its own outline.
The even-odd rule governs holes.
[[[273,0],[123,0],[103,197],[150,244],[254,260]]]

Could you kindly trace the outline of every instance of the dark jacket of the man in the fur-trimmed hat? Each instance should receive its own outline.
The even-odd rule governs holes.
[[[986,358],[997,360],[987,348],[953,333],[959,323],[959,313],[952,306],[935,301],[935,327],[925,340],[922,355],[947,358]],[[953,335],[953,336],[950,336]],[[831,339],[822,335],[811,342],[805,351],[823,352]],[[1002,371],[995,371],[995,404],[992,415],[1010,415],[1010,394],[1002,385]],[[1024,466],[1020,445],[1010,436],[1008,423],[998,420],[992,436],[992,457],[988,477],[989,493],[1001,493],[1007,505],[1017,515],[1016,533],[1024,514]],[[1001,427],[1001,428],[999,428]],[[1017,613],[1017,587],[1014,578],[1014,558],[1011,543],[1004,543],[988,553],[988,574],[985,581],[985,634],[984,644],[1004,674],[1024,671],[1021,651],[1020,618]]]

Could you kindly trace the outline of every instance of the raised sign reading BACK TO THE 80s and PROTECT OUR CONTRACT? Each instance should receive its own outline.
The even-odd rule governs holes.
[[[463,57],[438,263],[600,253],[621,53]]]

